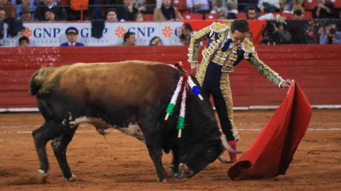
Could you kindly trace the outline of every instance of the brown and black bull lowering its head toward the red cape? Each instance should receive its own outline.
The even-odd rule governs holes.
[[[164,121],[167,104],[182,74],[172,65],[127,61],[43,67],[33,74],[29,91],[36,95],[45,119],[33,131],[40,161],[39,175],[48,173],[45,146],[50,140],[63,175],[77,180],[67,164],[66,149],[78,124],[93,124],[99,133],[116,128],[145,141],[160,181],[168,178],[162,151],[173,152],[171,170],[178,177],[195,175],[223,151],[210,103],[188,91],[185,128],[178,138],[175,114]],[[197,82],[196,82],[197,83]]]

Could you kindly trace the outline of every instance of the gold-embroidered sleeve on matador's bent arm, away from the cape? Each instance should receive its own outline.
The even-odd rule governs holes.
[[[188,62],[197,62],[200,41],[209,38],[210,33],[211,33],[210,26],[207,26],[193,34],[193,36],[190,38],[190,46],[188,48]]]

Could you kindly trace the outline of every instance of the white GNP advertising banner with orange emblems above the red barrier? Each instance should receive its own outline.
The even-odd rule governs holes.
[[[151,38],[158,36],[163,45],[181,45],[179,33],[182,22],[120,22],[105,23],[102,38],[92,37],[92,24],[83,23],[23,23],[26,27],[17,36],[9,36],[8,26],[4,25],[4,38],[1,46],[18,46],[18,38],[27,36],[30,46],[59,46],[67,42],[65,30],[73,26],[79,31],[77,42],[86,46],[122,45],[124,33],[135,33],[136,45],[149,45]]]

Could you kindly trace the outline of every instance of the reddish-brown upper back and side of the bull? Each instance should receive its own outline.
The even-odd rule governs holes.
[[[48,79],[58,92],[83,102],[138,104],[169,94],[180,72],[157,62],[127,61],[68,65]],[[56,80],[55,78],[58,78]]]

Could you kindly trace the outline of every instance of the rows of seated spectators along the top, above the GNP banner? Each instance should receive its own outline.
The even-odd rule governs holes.
[[[340,18],[341,14],[341,3],[336,0],[0,0],[5,18],[24,21],[105,19],[109,11],[117,15],[117,21],[136,21],[139,14],[153,15],[152,21],[182,21],[186,13],[234,19],[250,8],[257,17],[267,13],[291,17],[296,10],[312,18]]]

